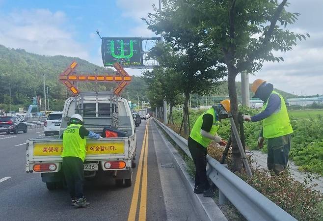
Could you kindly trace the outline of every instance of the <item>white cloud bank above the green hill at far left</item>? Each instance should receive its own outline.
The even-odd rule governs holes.
[[[66,25],[64,12],[48,9],[18,10],[2,15],[0,44],[23,48],[40,55],[89,57],[82,45],[73,40],[72,27]]]

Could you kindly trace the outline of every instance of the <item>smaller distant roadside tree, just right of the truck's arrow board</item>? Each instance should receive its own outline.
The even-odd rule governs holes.
[[[152,108],[162,107],[163,100],[166,100],[169,105],[168,123],[173,121],[173,107],[183,104],[182,90],[179,88],[177,82],[181,75],[171,68],[157,67],[153,71],[146,71],[143,73],[144,79],[148,84],[148,96]]]

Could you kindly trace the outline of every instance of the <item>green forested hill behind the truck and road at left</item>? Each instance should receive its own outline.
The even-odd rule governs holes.
[[[23,49],[9,49],[0,45],[0,109],[8,110],[9,108],[9,83],[11,84],[13,111],[18,111],[18,107],[28,107],[32,103],[32,97],[36,95],[41,96],[43,99],[43,74],[45,73],[46,86],[49,87],[51,110],[62,110],[67,90],[58,81],[58,76],[73,60],[78,62],[77,71],[80,72],[104,70],[103,67],[78,57],[36,55]],[[134,77],[133,83],[128,85],[127,88],[131,90],[130,98],[137,100],[137,92],[139,93],[139,99],[145,94],[145,86],[139,86],[142,83],[141,78]],[[93,86],[93,84],[78,85],[83,90],[93,90]],[[98,87],[100,90],[109,90],[115,87],[115,84],[100,83]],[[124,91],[124,96],[126,92],[127,90]],[[68,96],[71,96],[70,92],[68,92]]]

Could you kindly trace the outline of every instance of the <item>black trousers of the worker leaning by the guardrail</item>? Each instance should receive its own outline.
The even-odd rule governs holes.
[[[206,155],[208,154],[208,149],[190,137],[188,137],[188,149],[195,164],[195,187],[202,186],[208,189],[210,187],[206,175]]]

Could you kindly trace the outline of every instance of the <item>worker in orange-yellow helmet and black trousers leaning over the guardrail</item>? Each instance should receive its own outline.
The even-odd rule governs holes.
[[[203,193],[205,197],[214,197],[213,188],[206,175],[206,156],[208,145],[214,140],[223,142],[217,135],[221,119],[228,117],[230,111],[230,100],[223,100],[218,106],[213,106],[201,114],[188,137],[188,149],[195,164],[195,188],[194,193]]]

